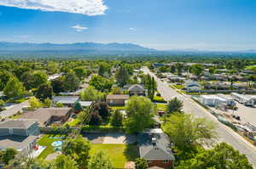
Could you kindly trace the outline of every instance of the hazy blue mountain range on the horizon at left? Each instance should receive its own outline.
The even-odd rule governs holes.
[[[19,43],[19,42],[0,42],[0,51],[130,51],[130,52],[153,52],[153,48],[144,48],[132,43],[96,43],[96,42],[78,42],[78,43]]]

